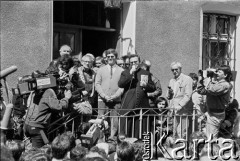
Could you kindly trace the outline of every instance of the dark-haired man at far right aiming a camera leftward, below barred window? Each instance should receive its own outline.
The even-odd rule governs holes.
[[[231,69],[227,65],[222,65],[213,74],[210,72],[208,76],[210,77],[210,82],[206,87],[203,84],[203,78],[199,78],[198,93],[206,95],[207,137],[212,134],[213,138],[217,138],[220,124],[225,118],[225,109],[228,107],[230,101],[230,92],[232,89],[230,83],[232,76]]]

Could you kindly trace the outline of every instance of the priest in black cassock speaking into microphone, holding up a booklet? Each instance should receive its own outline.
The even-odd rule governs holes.
[[[126,93],[122,99],[122,114],[126,114],[131,109],[150,108],[148,101],[148,92],[155,91],[155,85],[151,79],[151,73],[140,67],[140,57],[138,55],[130,56],[130,68],[122,72],[120,80],[118,82],[120,88],[124,88]],[[140,112],[139,110],[135,111]],[[129,130],[134,130],[134,137],[139,137],[139,119],[135,119],[135,129],[128,126]],[[130,122],[131,120],[128,120]],[[125,122],[123,118],[120,122],[120,134],[125,134]],[[143,131],[147,132],[147,122],[143,121]],[[130,123],[131,124],[131,123]],[[128,135],[130,133],[128,132]],[[132,136],[132,134],[130,134]]]

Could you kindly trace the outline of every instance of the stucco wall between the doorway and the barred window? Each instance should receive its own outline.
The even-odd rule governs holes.
[[[139,1],[136,12],[136,50],[152,62],[151,72],[160,79],[165,96],[173,77],[171,62],[181,62],[185,74],[199,69],[199,4]]]

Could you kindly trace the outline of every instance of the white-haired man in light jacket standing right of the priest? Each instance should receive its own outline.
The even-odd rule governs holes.
[[[192,107],[189,102],[192,96],[191,77],[182,73],[182,65],[179,62],[171,64],[173,78],[169,82],[168,99],[170,100],[170,108],[173,109],[175,117],[175,128],[177,128],[177,137],[186,137],[187,128],[189,126],[186,115],[192,114]],[[181,131],[182,129],[182,131]]]

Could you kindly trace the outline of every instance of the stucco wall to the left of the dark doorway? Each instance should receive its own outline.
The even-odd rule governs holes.
[[[52,53],[52,2],[1,2],[1,70],[16,65],[7,77],[16,87],[17,77],[44,71]]]

